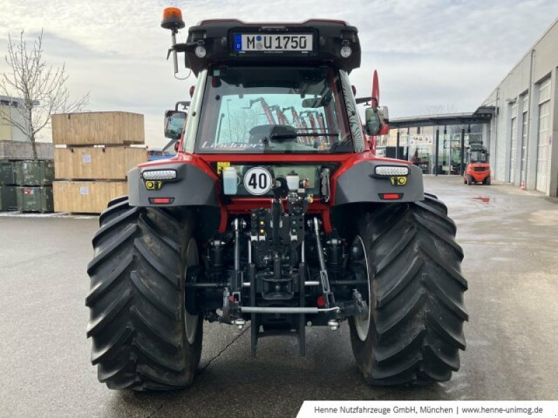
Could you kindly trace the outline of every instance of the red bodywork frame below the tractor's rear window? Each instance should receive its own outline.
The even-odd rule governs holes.
[[[228,199],[225,203],[221,198],[221,182],[211,163],[213,162],[291,162],[291,163],[312,163],[316,164],[324,162],[333,162],[340,164],[340,167],[335,170],[331,176],[331,199],[329,202],[324,202],[322,199],[315,199],[310,203],[308,214],[316,214],[322,217],[324,231],[331,233],[331,219],[330,209],[335,204],[335,189],[337,187],[337,180],[348,169],[354,167],[356,164],[365,161],[382,160],[385,162],[402,163],[400,160],[392,160],[389,158],[378,158],[372,154],[372,151],[365,150],[362,153],[347,153],[347,154],[188,154],[179,152],[175,157],[170,160],[157,160],[140,164],[140,167],[157,167],[158,165],[168,164],[168,162],[182,162],[183,164],[193,164],[197,168],[204,171],[216,182],[216,190],[218,193],[217,200],[219,203],[221,220],[219,225],[219,232],[223,233],[227,229],[228,216],[231,215],[246,215],[253,208],[271,208],[271,199],[269,197],[239,197]],[[410,163],[408,163],[410,164]]]

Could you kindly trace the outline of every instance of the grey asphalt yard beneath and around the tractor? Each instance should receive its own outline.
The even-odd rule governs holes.
[[[199,374],[177,392],[115,392],[97,381],[86,265],[96,217],[0,215],[1,417],[294,417],[304,400],[558,399],[558,204],[509,185],[426,177],[458,224],[469,280],[467,350],[449,382],[370,387],[347,324],[269,337],[204,324]]]

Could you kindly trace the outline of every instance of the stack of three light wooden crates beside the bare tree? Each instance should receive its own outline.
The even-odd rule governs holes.
[[[144,117],[127,112],[52,116],[54,211],[100,213],[128,194],[128,171],[146,162]]]

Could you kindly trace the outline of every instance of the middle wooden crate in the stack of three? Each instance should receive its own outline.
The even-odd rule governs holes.
[[[58,179],[126,180],[130,169],[146,161],[144,148],[87,146],[54,150],[54,170]]]

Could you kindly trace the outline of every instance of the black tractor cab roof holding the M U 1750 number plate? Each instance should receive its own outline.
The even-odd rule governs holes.
[[[305,50],[280,48],[280,42],[293,39],[296,42],[300,36],[310,42]],[[272,41],[278,45],[264,47],[268,41],[269,45]],[[255,42],[260,44],[259,49]],[[197,47],[203,47],[204,56],[195,53]],[[341,56],[342,47],[349,47],[349,56]],[[299,23],[203,20],[197,26],[190,26],[186,43],[176,44],[173,49],[185,53],[186,68],[195,75],[211,65],[221,64],[334,65],[347,72],[361,64],[358,30],[342,20],[310,19]]]

